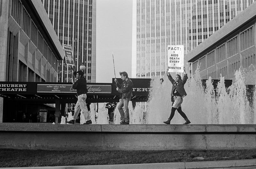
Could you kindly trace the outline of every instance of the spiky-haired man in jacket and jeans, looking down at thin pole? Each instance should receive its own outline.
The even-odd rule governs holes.
[[[132,80],[128,77],[127,72],[125,71],[119,72],[119,74],[123,80],[123,83],[120,85],[116,78],[115,78],[115,82],[116,82],[116,90],[121,93],[118,110],[123,120],[121,121],[120,124],[130,124],[128,104],[132,98],[133,83],[132,83]]]

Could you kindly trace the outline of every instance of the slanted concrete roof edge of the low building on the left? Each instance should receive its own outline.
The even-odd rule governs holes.
[[[21,2],[57,60],[63,60],[65,56],[64,50],[42,2],[40,0],[21,0]]]

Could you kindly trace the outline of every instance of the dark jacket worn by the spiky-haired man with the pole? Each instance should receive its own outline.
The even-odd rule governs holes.
[[[130,78],[128,78],[128,80],[124,80],[123,83],[120,85],[117,82],[117,87],[118,92],[120,92],[122,94],[122,96],[120,95],[120,99],[122,97],[122,99],[126,99],[126,98],[131,98],[132,97],[132,87],[133,87],[133,83],[132,80]]]

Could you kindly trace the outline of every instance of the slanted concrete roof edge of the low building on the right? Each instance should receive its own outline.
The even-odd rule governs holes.
[[[213,33],[210,37],[205,39],[196,48],[191,50],[187,55],[185,55],[188,62],[195,62],[198,57],[202,54],[206,54],[212,51],[215,45],[220,43],[221,40],[226,39],[228,36],[233,35],[234,32],[239,30],[244,26],[244,23],[250,22],[256,18],[256,2],[248,6],[244,11],[241,11],[235,18],[231,19],[227,24],[222,26],[218,31]]]

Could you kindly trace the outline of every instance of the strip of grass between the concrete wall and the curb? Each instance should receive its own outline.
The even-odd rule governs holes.
[[[204,160],[193,159],[203,157]],[[49,151],[0,149],[0,167],[110,165],[256,158],[251,150]]]

